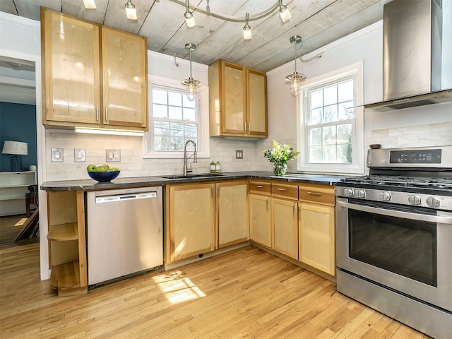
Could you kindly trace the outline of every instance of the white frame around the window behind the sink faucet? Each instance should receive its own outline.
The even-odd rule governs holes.
[[[180,81],[163,78],[161,76],[148,76],[148,124],[149,131],[143,136],[143,159],[184,159],[184,151],[155,151],[151,149],[154,131],[153,119],[153,88],[162,88],[174,92],[184,92]],[[210,157],[209,135],[209,91],[208,86],[201,85],[196,89],[196,114],[198,117],[198,143],[196,144],[196,157]]]

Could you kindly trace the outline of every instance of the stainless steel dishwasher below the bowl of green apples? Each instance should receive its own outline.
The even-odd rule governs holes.
[[[163,263],[162,186],[87,192],[88,285]]]

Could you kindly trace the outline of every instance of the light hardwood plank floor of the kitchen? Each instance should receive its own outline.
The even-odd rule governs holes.
[[[57,297],[38,244],[0,250],[0,338],[429,338],[254,246]]]

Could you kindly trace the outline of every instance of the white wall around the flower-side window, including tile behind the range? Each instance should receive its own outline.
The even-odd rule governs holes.
[[[383,22],[352,33],[310,54],[322,54],[301,66],[307,78],[364,61],[364,103],[383,98]],[[301,64],[301,65],[300,65]],[[293,72],[293,61],[273,69],[268,76],[269,138],[296,145],[297,98],[290,95],[285,76]],[[393,112],[364,112],[364,145],[381,143],[383,148],[452,145],[452,103],[399,109]],[[263,143],[261,143],[263,144]],[[262,145],[258,145],[258,148]],[[261,160],[263,162],[263,160]],[[292,169],[295,164],[291,164]]]

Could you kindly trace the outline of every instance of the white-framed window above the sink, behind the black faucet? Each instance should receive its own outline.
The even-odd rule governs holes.
[[[149,83],[149,131],[143,139],[144,157],[184,157],[184,145],[190,139],[196,143],[198,157],[209,157],[206,100],[206,86],[191,101],[179,81],[153,76]]]

